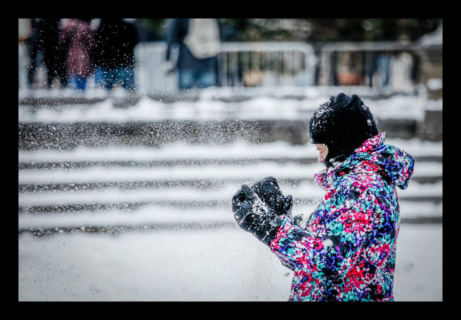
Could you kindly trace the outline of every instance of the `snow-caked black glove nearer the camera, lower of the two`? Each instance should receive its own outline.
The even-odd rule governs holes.
[[[239,227],[252,233],[265,245],[275,238],[282,223],[282,218],[271,212],[247,185],[243,185],[232,198],[232,211]]]

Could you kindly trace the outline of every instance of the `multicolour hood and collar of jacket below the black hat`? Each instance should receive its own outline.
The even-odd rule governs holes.
[[[317,173],[315,175],[317,183],[325,190],[329,190],[334,180],[341,175],[374,171],[399,188],[406,189],[413,175],[414,159],[404,150],[385,145],[384,139],[385,132],[367,139],[344,162]]]

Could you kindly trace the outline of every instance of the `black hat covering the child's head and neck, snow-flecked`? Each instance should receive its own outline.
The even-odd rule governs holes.
[[[343,162],[354,149],[376,134],[378,127],[373,115],[356,94],[350,97],[340,93],[330,97],[309,121],[310,142],[328,147],[324,161],[327,167],[333,162]]]

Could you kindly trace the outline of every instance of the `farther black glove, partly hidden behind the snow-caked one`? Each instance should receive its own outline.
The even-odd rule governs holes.
[[[286,197],[283,195],[276,178],[271,176],[265,177],[251,188],[268,207],[271,214],[290,215],[291,208],[293,207],[293,198],[291,195]]]

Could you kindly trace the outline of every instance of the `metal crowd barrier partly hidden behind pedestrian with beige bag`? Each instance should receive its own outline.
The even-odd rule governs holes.
[[[141,92],[171,91],[177,74],[165,74],[164,43],[140,43],[135,49]],[[173,49],[173,61],[177,49]],[[317,59],[305,43],[225,42],[218,56],[221,87],[312,86]]]

